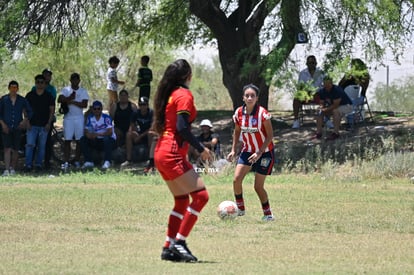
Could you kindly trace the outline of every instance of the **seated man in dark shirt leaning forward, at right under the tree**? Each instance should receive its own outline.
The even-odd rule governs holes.
[[[322,138],[322,126],[324,117],[333,116],[334,132],[328,140],[339,138],[339,127],[341,118],[352,112],[352,101],[344,92],[344,90],[333,85],[332,78],[326,76],[323,80],[323,88],[319,90],[320,113],[316,117],[316,138]]]

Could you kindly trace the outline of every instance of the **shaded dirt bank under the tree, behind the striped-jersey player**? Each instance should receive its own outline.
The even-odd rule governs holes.
[[[194,132],[198,134],[197,126],[204,118],[213,122],[214,131],[220,135],[223,153],[231,149],[233,122],[231,111],[200,111],[195,121]],[[373,120],[367,119],[365,123],[359,123],[352,131],[347,131],[345,125],[341,127],[340,138],[335,141],[325,139],[314,139],[316,124],[312,117],[305,117],[299,129],[292,129],[293,116],[291,112],[272,112],[273,137],[276,151],[279,153],[283,148],[298,150],[298,154],[290,153],[295,159],[305,156],[309,147],[320,145],[322,148],[334,150],[335,148],[351,148],[355,143],[373,142],[385,136],[406,137],[404,151],[414,151],[414,115],[395,115],[389,113],[374,113]],[[325,130],[328,136],[329,130]],[[345,154],[345,152],[342,152]]]

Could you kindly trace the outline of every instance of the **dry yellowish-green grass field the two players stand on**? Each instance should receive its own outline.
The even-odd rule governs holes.
[[[194,264],[160,260],[172,198],[161,178],[98,171],[0,179],[1,274],[413,274],[414,184],[275,175],[264,223],[251,175],[246,216],[221,221],[231,175],[188,238]]]

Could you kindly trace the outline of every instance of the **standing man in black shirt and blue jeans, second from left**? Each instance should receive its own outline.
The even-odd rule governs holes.
[[[35,77],[35,91],[26,95],[33,116],[30,118],[26,134],[26,160],[25,171],[30,172],[33,168],[33,156],[36,147],[36,170],[43,169],[45,160],[47,135],[55,119],[55,99],[46,92],[46,80],[43,75]]]

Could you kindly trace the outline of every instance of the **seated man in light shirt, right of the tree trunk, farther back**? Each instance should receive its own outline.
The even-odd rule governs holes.
[[[305,87],[305,89],[307,90],[306,92],[308,94],[316,92],[319,88],[322,87],[324,73],[320,68],[316,67],[317,64],[318,63],[316,62],[316,57],[314,55],[309,55],[306,58],[307,68],[303,69],[299,73],[298,84],[299,86]],[[310,91],[309,89],[312,91]],[[315,93],[314,95],[312,95],[312,98],[310,100],[303,100],[299,98],[297,95],[295,95],[295,98],[293,99],[293,129],[298,129],[300,127],[299,110],[302,107],[302,105],[306,103],[318,104],[319,95]]]

